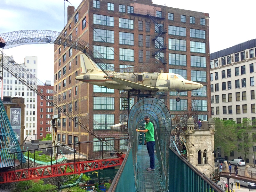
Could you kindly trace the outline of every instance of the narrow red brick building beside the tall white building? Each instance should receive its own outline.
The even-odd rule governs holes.
[[[53,100],[53,86],[51,81],[46,81],[45,85],[38,85],[37,91],[42,93],[47,99]],[[51,116],[53,115],[53,105],[37,94],[37,139],[43,139],[46,134],[51,134]]]

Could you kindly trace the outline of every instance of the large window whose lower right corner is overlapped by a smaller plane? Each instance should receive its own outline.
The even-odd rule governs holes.
[[[114,114],[93,114],[93,129],[110,129],[114,125]]]

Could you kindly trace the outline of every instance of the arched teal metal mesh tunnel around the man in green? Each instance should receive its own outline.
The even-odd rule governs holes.
[[[138,100],[131,108],[128,116],[128,133],[130,143],[132,144],[132,158],[134,164],[134,173],[136,180],[137,173],[137,147],[138,132],[136,128],[138,122],[148,115],[150,121],[155,127],[156,155],[160,163],[161,177],[168,188],[168,170],[169,170],[169,144],[171,135],[171,114],[163,101],[155,97],[145,97]]]

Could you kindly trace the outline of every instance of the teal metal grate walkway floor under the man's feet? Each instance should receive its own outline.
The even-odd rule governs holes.
[[[155,171],[147,171],[149,167],[149,156],[146,145],[138,146],[137,156],[138,179],[137,192],[164,192],[164,183],[162,182],[160,166],[155,153]]]

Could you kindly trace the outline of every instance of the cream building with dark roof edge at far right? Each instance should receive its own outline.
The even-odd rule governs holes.
[[[212,117],[255,124],[256,39],[211,53]]]

